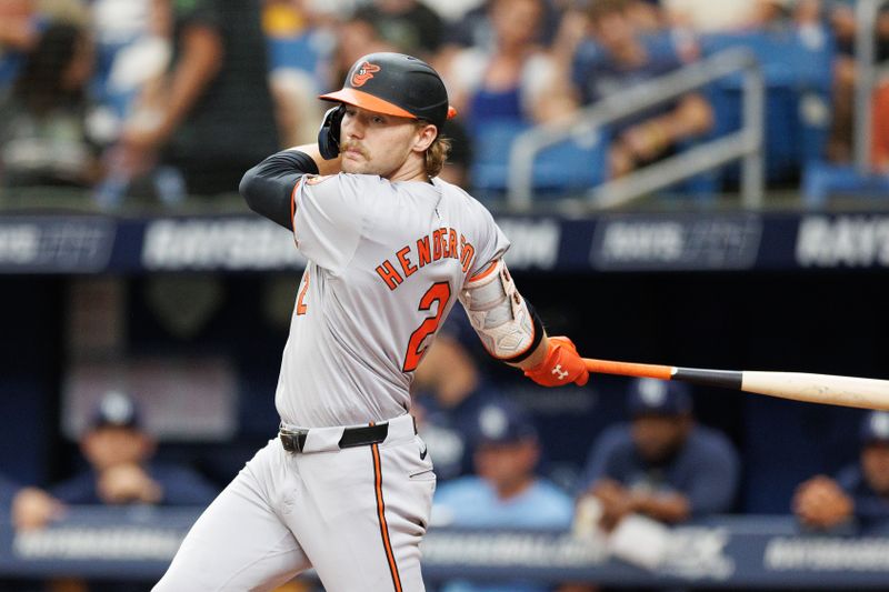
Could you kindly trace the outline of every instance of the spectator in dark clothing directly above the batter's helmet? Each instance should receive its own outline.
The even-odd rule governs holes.
[[[401,53],[430,59],[441,46],[441,17],[418,0],[371,0],[357,16]]]

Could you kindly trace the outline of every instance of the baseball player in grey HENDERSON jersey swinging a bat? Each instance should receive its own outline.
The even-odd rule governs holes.
[[[309,260],[281,360],[278,438],[204,511],[157,591],[269,590],[314,568],[329,592],[421,591],[436,476],[410,411],[413,371],[460,300],[487,350],[552,387],[585,384],[502,255],[491,214],[437,178],[444,84],[398,53],[359,59],[318,144],[247,172],[251,209]]]

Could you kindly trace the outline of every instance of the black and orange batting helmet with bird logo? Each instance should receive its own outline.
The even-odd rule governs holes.
[[[341,90],[320,97],[389,116],[423,119],[439,130],[457,114],[431,66],[403,53],[369,53],[346,74]]]

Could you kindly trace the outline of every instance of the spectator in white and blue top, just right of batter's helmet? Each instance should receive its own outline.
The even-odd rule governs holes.
[[[459,50],[443,66],[451,104],[472,132],[550,121],[577,107],[567,77],[539,44],[545,10],[543,0],[492,0],[492,44]]]

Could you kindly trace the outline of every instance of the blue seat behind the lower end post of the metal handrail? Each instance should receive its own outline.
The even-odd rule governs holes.
[[[506,192],[512,142],[529,128],[527,123],[492,121],[472,130],[475,191],[489,195]],[[588,140],[567,140],[538,155],[533,169],[537,197],[563,197],[602,182],[607,168],[605,141],[601,136]]]

